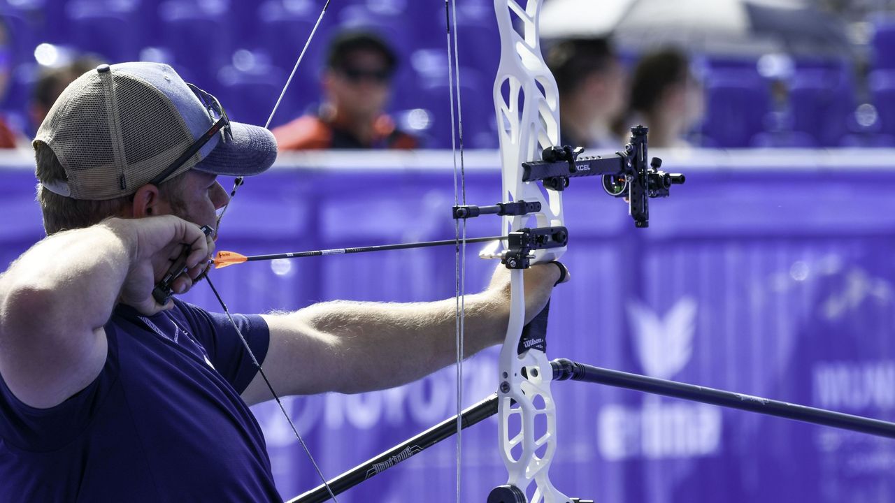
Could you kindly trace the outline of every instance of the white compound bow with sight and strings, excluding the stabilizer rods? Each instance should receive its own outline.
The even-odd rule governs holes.
[[[500,64],[494,83],[493,98],[497,113],[500,137],[500,158],[505,200],[494,206],[480,207],[457,204],[454,217],[463,221],[482,214],[496,214],[502,218],[503,234],[507,237],[507,248],[485,258],[499,258],[510,271],[510,313],[507,335],[499,356],[499,443],[500,454],[507,466],[507,484],[492,490],[489,503],[524,503],[528,501],[526,492],[534,484],[533,503],[569,503],[569,499],[550,483],[550,463],[557,449],[556,405],[550,391],[550,381],[554,375],[553,366],[546,356],[547,307],[528,325],[525,325],[524,269],[532,263],[558,260],[566,251],[567,230],[562,212],[562,191],[569,179],[577,176],[603,175],[603,186],[610,195],[628,200],[631,216],[636,226],[648,225],[647,200],[650,197],[667,196],[672,183],[683,183],[682,175],[669,175],[658,170],[661,161],[654,159],[647,165],[646,128],[632,129],[631,141],[621,152],[610,158],[581,158],[583,149],[559,147],[559,97],[556,81],[541,55],[539,16],[543,0],[494,0],[501,38]],[[277,107],[292,81],[303,55],[311,44],[311,39],[320,26],[327,11],[329,0],[324,4],[317,23],[311,30],[301,55],[296,61],[286,85],[277,99],[268,118],[271,122]],[[451,60],[451,2],[446,0],[448,67]],[[455,27],[456,27],[456,4]],[[462,164],[462,119],[460,119],[459,64],[456,59],[456,29],[453,30],[454,70],[456,70],[456,131],[460,138],[460,158]],[[448,72],[453,89],[453,71]],[[454,106],[451,91],[452,114]],[[452,115],[452,124],[454,117]],[[456,149],[455,149],[456,152]],[[539,152],[541,160],[536,160]],[[462,169],[461,169],[462,176]],[[544,189],[538,186],[540,181]],[[231,192],[233,199],[237,188],[242,185],[242,177],[234,182]],[[465,201],[465,196],[464,196]],[[223,217],[225,209],[218,217]],[[527,227],[534,221],[535,226]],[[465,227],[464,227],[465,229]],[[465,248],[465,230],[457,232],[456,246]],[[463,284],[458,265],[458,291]],[[226,315],[226,304],[217,294],[217,289],[209,281],[218,302]],[[462,395],[459,386],[462,380],[463,355],[463,309],[458,300],[457,337],[457,402]],[[239,333],[239,328],[231,322]],[[239,334],[242,337],[242,334]],[[249,350],[243,338],[243,345]],[[254,361],[254,357],[252,356]],[[294,434],[303,446],[307,456],[320,474],[325,497],[336,500],[336,493],[320,473],[310,450],[294,426],[289,414],[280,402],[279,396],[270,385],[261,369],[260,362],[254,361],[260,375],[267,382],[272,396],[277,400]],[[461,421],[463,414],[458,411],[456,433],[468,424]],[[459,440],[457,499],[459,500]],[[413,454],[413,453],[411,453]],[[320,490],[316,490],[320,493]],[[303,498],[299,498],[305,500]],[[299,500],[295,499],[295,500]],[[310,499],[308,499],[310,500]]]

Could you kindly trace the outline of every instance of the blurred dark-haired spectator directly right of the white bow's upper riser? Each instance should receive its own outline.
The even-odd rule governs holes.
[[[550,48],[547,64],[559,89],[560,142],[589,149],[618,149],[612,130],[627,107],[626,72],[605,38],[578,38]]]

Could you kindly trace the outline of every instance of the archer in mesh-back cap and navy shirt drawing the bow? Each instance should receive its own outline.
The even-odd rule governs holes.
[[[277,156],[270,132],[230,122],[169,66],[84,73],[33,144],[48,235],[0,275],[0,501],[279,501],[249,410],[271,396],[234,325],[283,395],[389,388],[452,362],[453,299],[233,324],[155,300],[184,250],[176,293],[207,267],[227,202],[217,175]],[[466,299],[469,354],[503,337],[503,272]],[[531,316],[558,277],[526,271]]]

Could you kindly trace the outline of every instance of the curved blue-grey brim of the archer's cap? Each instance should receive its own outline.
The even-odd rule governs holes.
[[[277,160],[277,141],[267,129],[231,122],[230,132],[233,138],[218,142],[193,169],[215,175],[258,175]]]

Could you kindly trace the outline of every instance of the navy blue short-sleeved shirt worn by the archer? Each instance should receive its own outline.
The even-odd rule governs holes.
[[[234,320],[263,362],[267,324]],[[0,502],[282,501],[225,315],[118,306],[105,328],[105,366],[60,405],[24,405],[0,379]]]

